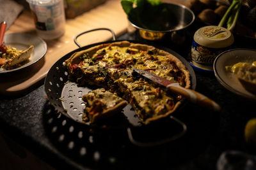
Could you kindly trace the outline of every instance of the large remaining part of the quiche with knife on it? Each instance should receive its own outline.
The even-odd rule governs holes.
[[[71,81],[115,92],[131,104],[144,124],[173,113],[181,104],[182,96],[167,92],[166,88],[136,74],[132,68],[179,82],[185,88],[191,85],[189,72],[177,57],[154,46],[129,41],[81,50],[65,60],[65,64]]]

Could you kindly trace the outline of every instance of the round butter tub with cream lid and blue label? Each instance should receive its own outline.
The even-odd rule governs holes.
[[[212,71],[215,58],[233,43],[234,36],[228,29],[215,25],[202,27],[194,34],[190,62],[200,69]]]

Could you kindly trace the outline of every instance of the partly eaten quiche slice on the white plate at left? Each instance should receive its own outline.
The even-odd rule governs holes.
[[[29,60],[33,50],[33,45],[29,46],[26,50],[17,50],[13,46],[2,44],[0,46],[0,67],[3,69],[12,69],[13,67],[21,66],[22,62]]]

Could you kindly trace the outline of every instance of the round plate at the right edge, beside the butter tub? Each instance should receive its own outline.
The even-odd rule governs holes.
[[[256,50],[237,48],[228,50],[216,57],[213,64],[214,74],[221,85],[231,92],[249,99],[255,99],[256,95],[248,92],[241,85],[237,77],[225,69],[226,66],[233,66],[237,62],[256,61]]]

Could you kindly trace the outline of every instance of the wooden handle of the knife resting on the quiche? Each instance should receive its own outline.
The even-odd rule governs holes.
[[[172,83],[167,86],[169,90],[172,92],[175,92],[177,94],[182,94],[182,96],[189,99],[192,103],[196,103],[200,106],[209,108],[214,111],[220,111],[220,106],[216,102],[212,101],[208,97],[204,96],[203,94],[200,94],[199,92],[196,92],[195,90],[186,89],[184,87],[181,87],[179,83]]]

